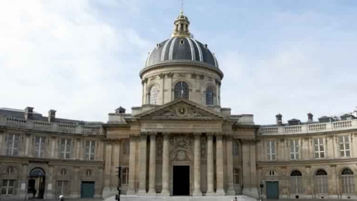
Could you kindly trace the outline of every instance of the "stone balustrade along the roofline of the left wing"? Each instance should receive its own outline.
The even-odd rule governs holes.
[[[100,123],[97,124],[61,124],[55,122],[44,122],[35,120],[24,120],[15,117],[0,115],[0,126],[41,130],[50,132],[61,132],[68,134],[84,134],[84,135],[102,135],[103,127]]]

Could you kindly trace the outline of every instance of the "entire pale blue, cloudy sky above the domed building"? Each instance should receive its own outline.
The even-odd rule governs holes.
[[[11,0],[0,6],[0,107],[107,121],[141,105],[139,71],[180,0]],[[224,73],[221,106],[256,124],[357,106],[357,1],[184,1]]]

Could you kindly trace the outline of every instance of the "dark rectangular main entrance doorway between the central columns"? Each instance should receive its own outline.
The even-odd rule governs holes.
[[[190,195],[190,166],[174,166],[172,195]]]

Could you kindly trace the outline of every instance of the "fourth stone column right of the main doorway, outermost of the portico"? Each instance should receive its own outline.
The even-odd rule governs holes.
[[[233,150],[232,136],[227,136],[227,195],[235,195],[233,185]]]

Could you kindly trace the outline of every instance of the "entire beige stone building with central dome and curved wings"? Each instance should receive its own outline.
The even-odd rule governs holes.
[[[0,109],[1,198],[245,194],[357,198],[357,119],[257,125],[221,107],[223,72],[181,12],[140,71],[142,106],[107,123]],[[121,167],[121,178],[117,167]],[[35,189],[35,191],[34,191]]]

